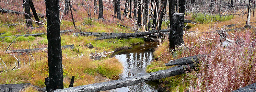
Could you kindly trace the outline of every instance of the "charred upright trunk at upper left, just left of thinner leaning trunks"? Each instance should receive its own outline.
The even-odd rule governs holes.
[[[23,0],[24,3],[24,8],[25,8],[25,13],[26,13],[26,24],[27,27],[33,27],[32,25],[32,20],[30,19],[30,5],[29,5],[29,0]]]

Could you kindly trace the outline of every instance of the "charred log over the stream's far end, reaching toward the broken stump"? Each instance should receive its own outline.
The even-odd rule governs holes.
[[[163,29],[159,30],[160,32],[168,32],[169,30]],[[103,40],[103,39],[111,39],[111,38],[131,38],[131,37],[141,37],[141,36],[146,36],[150,34],[155,34],[158,33],[158,30],[150,30],[148,32],[136,32],[136,33],[126,33],[126,34],[120,34],[120,35],[114,35],[114,36],[104,36],[104,37],[99,37],[94,40]]]

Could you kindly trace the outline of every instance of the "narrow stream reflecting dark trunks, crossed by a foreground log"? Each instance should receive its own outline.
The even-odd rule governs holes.
[[[120,78],[146,74],[146,66],[152,62],[153,52],[157,45],[157,42],[145,42],[132,46],[132,49],[117,52],[115,57],[124,66]],[[150,81],[113,89],[110,92],[157,92],[157,83]]]

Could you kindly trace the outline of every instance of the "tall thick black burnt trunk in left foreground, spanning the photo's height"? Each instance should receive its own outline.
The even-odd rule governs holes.
[[[59,0],[45,0],[49,78],[53,89],[63,88]]]

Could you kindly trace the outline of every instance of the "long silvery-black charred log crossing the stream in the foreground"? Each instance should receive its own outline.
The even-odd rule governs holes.
[[[119,80],[113,80],[108,82],[102,83],[95,83],[89,84],[84,86],[76,86],[76,87],[69,87],[64,89],[57,89],[54,92],[98,92],[98,91],[105,91],[110,89],[116,89],[125,86],[131,86],[134,84],[157,80],[161,78],[166,78],[175,75],[181,75],[187,71],[187,69],[192,69],[194,64],[189,65],[182,65],[182,66],[174,66],[172,68],[166,70],[160,70],[153,73],[148,73],[145,75],[138,75],[132,77],[126,77]]]

